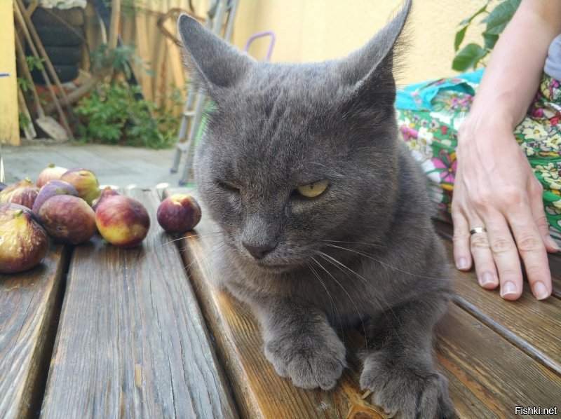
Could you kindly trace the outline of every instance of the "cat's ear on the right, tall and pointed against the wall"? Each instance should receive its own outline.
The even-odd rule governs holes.
[[[410,13],[412,0],[381,31],[339,62],[339,71],[348,88],[350,99],[363,104],[392,105],[396,98],[393,78],[394,52],[400,46],[400,35]]]

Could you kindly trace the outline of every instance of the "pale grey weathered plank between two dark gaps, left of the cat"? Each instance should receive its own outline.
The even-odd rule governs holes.
[[[44,418],[235,418],[179,252],[152,219],[141,247],[76,247]]]

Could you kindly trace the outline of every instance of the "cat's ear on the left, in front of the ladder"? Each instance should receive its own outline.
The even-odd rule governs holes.
[[[248,71],[253,59],[212,34],[196,19],[181,15],[177,22],[186,51],[186,67],[191,78],[219,99]]]

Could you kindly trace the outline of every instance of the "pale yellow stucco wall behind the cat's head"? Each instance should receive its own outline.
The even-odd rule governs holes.
[[[454,34],[464,18],[485,0],[417,0],[408,25],[409,47],[398,83],[451,76]],[[243,48],[255,32],[276,34],[275,62],[305,62],[342,57],[359,48],[399,10],[403,0],[240,0],[233,43]],[[476,39],[477,30],[466,40]],[[250,53],[265,55],[268,39]]]

